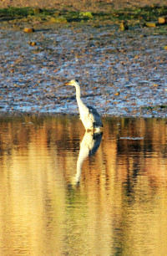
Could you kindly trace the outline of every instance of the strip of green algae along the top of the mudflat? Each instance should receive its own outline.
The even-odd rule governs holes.
[[[124,8],[114,10],[111,7],[106,12],[81,12],[70,9],[40,9],[40,8],[2,8],[0,9],[0,21],[18,20],[25,21],[43,20],[43,22],[55,23],[120,23],[128,21],[131,26],[144,26],[145,23],[158,21],[160,16],[166,15],[167,6],[151,6],[143,8]]]

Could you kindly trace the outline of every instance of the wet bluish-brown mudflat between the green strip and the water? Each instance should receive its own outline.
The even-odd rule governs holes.
[[[76,78],[100,115],[166,118],[166,35],[166,25],[3,23],[0,111],[76,114],[75,91],[63,85]]]

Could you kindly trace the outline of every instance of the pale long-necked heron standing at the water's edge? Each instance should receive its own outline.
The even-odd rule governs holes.
[[[97,110],[92,106],[86,106],[80,98],[80,86],[78,80],[72,79],[66,85],[72,85],[76,89],[76,100],[78,103],[78,110],[80,114],[80,120],[82,120],[84,128],[86,131],[99,132],[100,128],[103,126],[101,117]]]

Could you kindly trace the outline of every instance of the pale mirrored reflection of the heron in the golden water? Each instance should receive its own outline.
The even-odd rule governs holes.
[[[79,184],[80,177],[81,177],[81,169],[83,165],[83,161],[87,156],[94,156],[96,151],[99,149],[99,145],[101,143],[103,136],[103,132],[101,133],[94,133],[85,132],[83,136],[83,140],[80,143],[80,151],[78,154],[78,161],[77,161],[77,174],[75,177],[75,183]]]

